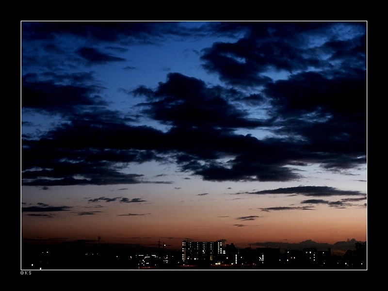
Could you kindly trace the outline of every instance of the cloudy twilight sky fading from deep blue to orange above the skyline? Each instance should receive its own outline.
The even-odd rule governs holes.
[[[367,241],[367,21],[21,21],[20,236]]]

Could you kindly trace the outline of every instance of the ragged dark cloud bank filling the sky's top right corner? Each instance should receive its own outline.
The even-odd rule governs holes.
[[[271,83],[271,71],[295,73],[349,63],[366,68],[363,22],[223,22],[215,23],[213,29],[243,33],[234,43],[217,42],[202,51],[204,68],[232,85]],[[333,31],[340,29],[352,31],[353,38],[339,39]]]

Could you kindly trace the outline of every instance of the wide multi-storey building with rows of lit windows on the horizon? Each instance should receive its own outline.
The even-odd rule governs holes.
[[[184,240],[182,242],[183,264],[204,265],[218,261],[222,254],[222,242],[193,242]]]

